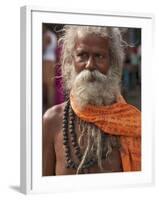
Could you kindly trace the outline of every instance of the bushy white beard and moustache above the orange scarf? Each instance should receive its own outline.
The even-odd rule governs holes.
[[[83,70],[76,75],[72,86],[72,94],[81,107],[87,104],[96,106],[112,104],[118,93],[119,81],[114,79],[111,70],[107,75],[97,70]]]

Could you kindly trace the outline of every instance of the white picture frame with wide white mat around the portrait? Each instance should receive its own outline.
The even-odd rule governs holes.
[[[21,8],[21,191],[61,192],[153,182],[152,15]],[[142,29],[142,172],[42,177],[42,23]],[[147,92],[149,91],[149,92]]]

